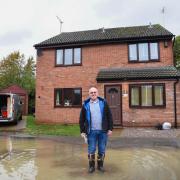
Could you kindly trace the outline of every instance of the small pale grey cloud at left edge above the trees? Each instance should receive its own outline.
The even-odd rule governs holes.
[[[10,31],[0,35],[0,46],[12,46],[23,43],[32,33],[27,30]]]

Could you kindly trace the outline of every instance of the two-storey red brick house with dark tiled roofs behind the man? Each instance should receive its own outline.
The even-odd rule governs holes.
[[[114,126],[180,125],[175,36],[159,24],[63,32],[37,50],[36,121],[78,123],[91,86]]]

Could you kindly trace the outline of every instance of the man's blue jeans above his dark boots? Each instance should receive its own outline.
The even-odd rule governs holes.
[[[106,150],[106,144],[108,135],[102,130],[91,130],[88,138],[88,154],[95,154],[96,144],[98,143],[98,154],[104,155]]]

